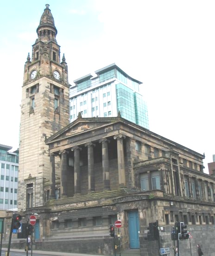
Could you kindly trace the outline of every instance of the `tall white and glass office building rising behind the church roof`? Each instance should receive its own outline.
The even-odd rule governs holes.
[[[74,81],[70,87],[70,121],[82,117],[122,118],[149,129],[147,105],[139,92],[142,82],[111,64]]]

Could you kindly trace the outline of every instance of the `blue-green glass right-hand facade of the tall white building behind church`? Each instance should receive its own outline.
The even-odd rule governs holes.
[[[119,83],[116,85],[117,110],[123,118],[149,129],[148,110],[143,96]]]

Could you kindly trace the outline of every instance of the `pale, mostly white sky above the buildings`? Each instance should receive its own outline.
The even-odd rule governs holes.
[[[0,144],[19,148],[24,65],[45,4],[69,82],[115,63],[141,81],[149,128],[200,154],[215,154],[214,0],[11,0],[0,15]]]

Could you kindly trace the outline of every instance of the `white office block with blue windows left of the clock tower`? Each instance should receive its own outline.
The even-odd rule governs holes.
[[[0,144],[0,209],[17,208],[19,149]]]

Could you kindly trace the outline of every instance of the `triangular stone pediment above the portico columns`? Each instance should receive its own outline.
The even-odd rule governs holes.
[[[56,134],[46,139],[46,144],[50,144],[54,141],[60,141],[73,135],[81,134],[86,131],[90,131],[103,126],[108,126],[115,122],[123,120],[120,117],[94,117],[94,118],[78,118],[66,127],[62,128]]]

